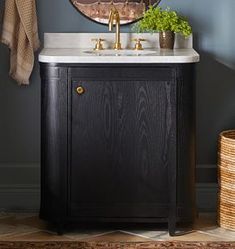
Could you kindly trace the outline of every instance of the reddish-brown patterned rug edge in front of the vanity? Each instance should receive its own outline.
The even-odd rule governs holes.
[[[1,242],[0,249],[235,249],[235,242]]]

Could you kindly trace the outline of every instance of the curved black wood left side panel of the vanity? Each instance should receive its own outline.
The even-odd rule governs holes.
[[[67,70],[41,66],[41,209],[59,222],[67,213]]]

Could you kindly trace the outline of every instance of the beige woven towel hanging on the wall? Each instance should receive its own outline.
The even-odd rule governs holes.
[[[6,0],[1,41],[11,49],[10,76],[29,84],[39,48],[35,0]]]

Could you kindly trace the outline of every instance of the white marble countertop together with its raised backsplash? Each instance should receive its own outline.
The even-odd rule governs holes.
[[[94,52],[92,38],[102,37],[104,50]],[[145,38],[143,51],[135,51],[133,38]],[[193,37],[176,35],[173,50],[159,49],[157,34],[122,33],[123,50],[112,50],[113,33],[45,33],[39,61],[44,63],[195,63],[200,59],[193,49]]]

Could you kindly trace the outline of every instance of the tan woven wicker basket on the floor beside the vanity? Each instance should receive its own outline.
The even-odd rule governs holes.
[[[235,130],[220,134],[218,223],[235,231]]]

